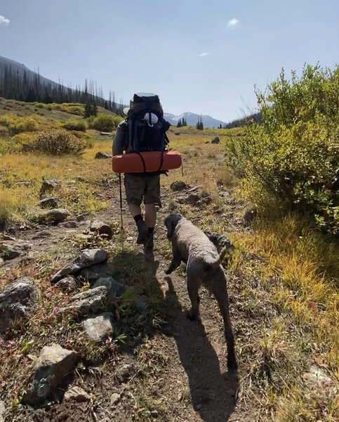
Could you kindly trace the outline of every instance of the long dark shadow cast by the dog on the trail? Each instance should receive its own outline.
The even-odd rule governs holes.
[[[168,283],[166,302],[173,309],[174,328],[171,335],[188,376],[193,408],[205,422],[226,422],[236,404],[237,372],[220,371],[218,356],[207,338],[204,326],[199,321],[187,319],[171,277],[165,280]]]

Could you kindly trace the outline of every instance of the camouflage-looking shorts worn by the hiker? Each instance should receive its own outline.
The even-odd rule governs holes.
[[[154,176],[135,176],[125,174],[124,186],[128,204],[140,207],[142,200],[145,205],[161,207],[160,174]]]

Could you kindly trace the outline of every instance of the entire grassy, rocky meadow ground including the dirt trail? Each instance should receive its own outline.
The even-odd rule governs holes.
[[[225,165],[226,146],[244,139],[244,129],[169,129],[183,174],[161,177],[163,207],[154,256],[147,257],[125,201],[121,243],[119,179],[109,158],[95,158],[111,152],[112,136],[83,111],[81,104],[0,98],[0,420],[334,422],[335,243],[293,213],[280,217],[271,207],[267,217],[248,203],[239,176]],[[114,127],[121,119],[99,113]],[[23,147],[66,122],[85,125],[67,131],[84,141],[81,153]],[[215,136],[220,143],[211,143]],[[181,191],[171,188],[174,181],[185,182]],[[201,288],[201,321],[190,321],[185,265],[165,274],[172,252],[164,218],[173,212],[234,244],[223,266],[237,372],[227,370],[213,295]],[[72,260],[84,262],[88,249],[99,250],[95,265],[51,283]],[[18,285],[26,302],[11,317],[8,298]],[[95,337],[98,326],[88,330],[95,317],[100,329],[108,324],[102,338]],[[44,349],[51,345],[53,353]],[[53,385],[48,366],[36,384],[40,396],[29,395],[48,352],[64,359],[51,369],[60,382]]]

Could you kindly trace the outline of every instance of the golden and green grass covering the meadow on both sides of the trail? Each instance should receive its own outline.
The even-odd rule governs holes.
[[[3,110],[4,105],[10,110]],[[37,114],[40,111],[44,115]],[[0,115],[6,114],[4,112],[22,114],[22,117],[34,115],[39,131],[55,129],[69,118],[80,120],[59,106],[48,110],[20,102],[4,103],[0,98]],[[259,215],[251,228],[244,229],[237,224],[246,201],[239,198],[241,193],[235,191],[238,181],[225,167],[223,144],[230,136],[242,136],[242,133],[239,128],[197,131],[171,127],[168,133],[170,146],[182,153],[184,176],[178,169],[161,178],[166,191],[164,205],[176,207],[204,229],[230,236],[236,245],[227,279],[231,310],[237,316],[234,324],[240,327],[236,333],[242,369],[239,402],[258,407],[255,416],[258,421],[335,422],[338,399],[336,401],[329,390],[319,385],[311,388],[305,383],[304,376],[312,366],[317,366],[331,378],[333,385],[339,379],[338,245],[321,236],[305,220],[292,214],[281,218],[277,210],[270,210],[269,216]],[[220,137],[221,145],[206,144],[215,135]],[[25,136],[31,134],[15,135],[15,141],[11,136],[12,146],[16,142],[25,143]],[[55,192],[56,196],[61,206],[73,213],[95,214],[109,207],[110,198],[98,194],[102,193],[103,183],[117,177],[112,174],[109,160],[94,160],[94,157],[98,151],[110,152],[112,139],[102,139],[92,129],[88,129],[85,136],[91,139],[93,148],[86,149],[80,157],[24,155],[15,148],[11,154],[3,153],[0,222],[25,222],[40,212],[37,203],[43,177],[60,179],[61,187]],[[8,134],[1,135],[0,132],[0,147],[8,139]],[[175,203],[177,193],[171,192],[169,186],[172,181],[181,179],[190,186],[201,186],[202,191],[210,192],[212,203],[201,209]],[[20,185],[20,181],[29,181],[29,184]],[[112,195],[117,193],[116,186],[114,189]],[[220,191],[229,192],[231,201],[222,200]],[[121,333],[126,335],[127,343],[134,344],[133,339],[147,338],[161,324],[162,293],[133,248],[121,253],[118,217],[113,224],[112,242],[95,238],[90,246],[107,249],[117,269],[117,280],[128,284],[128,290],[117,304],[117,311],[121,314]],[[81,330],[77,321],[64,319],[58,325],[53,315],[55,306],[67,302],[69,297],[49,286],[49,276],[69,257],[88,246],[88,243],[81,242],[67,238],[51,255],[37,255],[33,263],[1,274],[0,285],[18,276],[29,275],[41,289],[41,311],[30,321],[18,321],[10,332],[11,340],[6,340],[0,347],[0,361],[5,362],[0,366],[0,378],[6,380],[5,386],[0,382],[0,388],[11,393],[15,408],[19,406],[18,398],[32,366],[32,362],[27,362],[28,355],[37,354],[47,341],[55,340],[64,347],[74,348],[84,362],[94,362],[100,355],[114,360],[117,353],[115,343],[102,347],[93,345],[79,334]],[[168,259],[170,245],[160,243],[159,252]],[[145,318],[136,315],[133,309],[135,298],[141,294],[149,298]],[[138,345],[135,354],[138,367],[145,373],[154,371],[154,377],[157,376],[157,365],[166,364],[166,356],[158,350],[157,344],[149,349]],[[13,373],[16,374],[14,378]],[[153,409],[157,409],[161,416],[166,415],[166,403],[157,401],[159,396],[147,383],[147,378],[140,378],[138,388],[136,421],[152,416]]]

